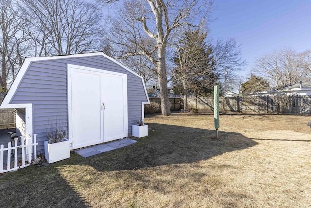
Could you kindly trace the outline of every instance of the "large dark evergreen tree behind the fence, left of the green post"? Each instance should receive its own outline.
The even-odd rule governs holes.
[[[175,92],[185,95],[205,96],[211,94],[218,79],[214,73],[212,47],[207,46],[207,33],[189,30],[180,40],[178,57],[173,57],[177,67],[173,70],[173,87]],[[186,105],[185,105],[186,107]]]

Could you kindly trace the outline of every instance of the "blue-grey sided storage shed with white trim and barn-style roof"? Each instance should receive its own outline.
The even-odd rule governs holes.
[[[16,126],[37,134],[68,128],[71,149],[127,137],[144,118],[149,98],[143,78],[102,52],[26,58],[0,108],[16,108]]]

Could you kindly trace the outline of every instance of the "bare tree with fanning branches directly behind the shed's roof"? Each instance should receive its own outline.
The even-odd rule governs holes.
[[[22,0],[35,56],[101,50],[101,12],[83,0]]]

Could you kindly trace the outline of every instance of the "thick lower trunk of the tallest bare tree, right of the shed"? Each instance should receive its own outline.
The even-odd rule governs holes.
[[[165,47],[163,45],[158,49],[157,71],[161,94],[161,111],[162,115],[171,115],[169,95],[167,92],[167,77],[165,65]]]

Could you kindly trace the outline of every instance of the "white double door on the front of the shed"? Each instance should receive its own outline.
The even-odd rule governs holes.
[[[126,74],[74,65],[68,66],[68,73],[72,148],[126,137]]]

